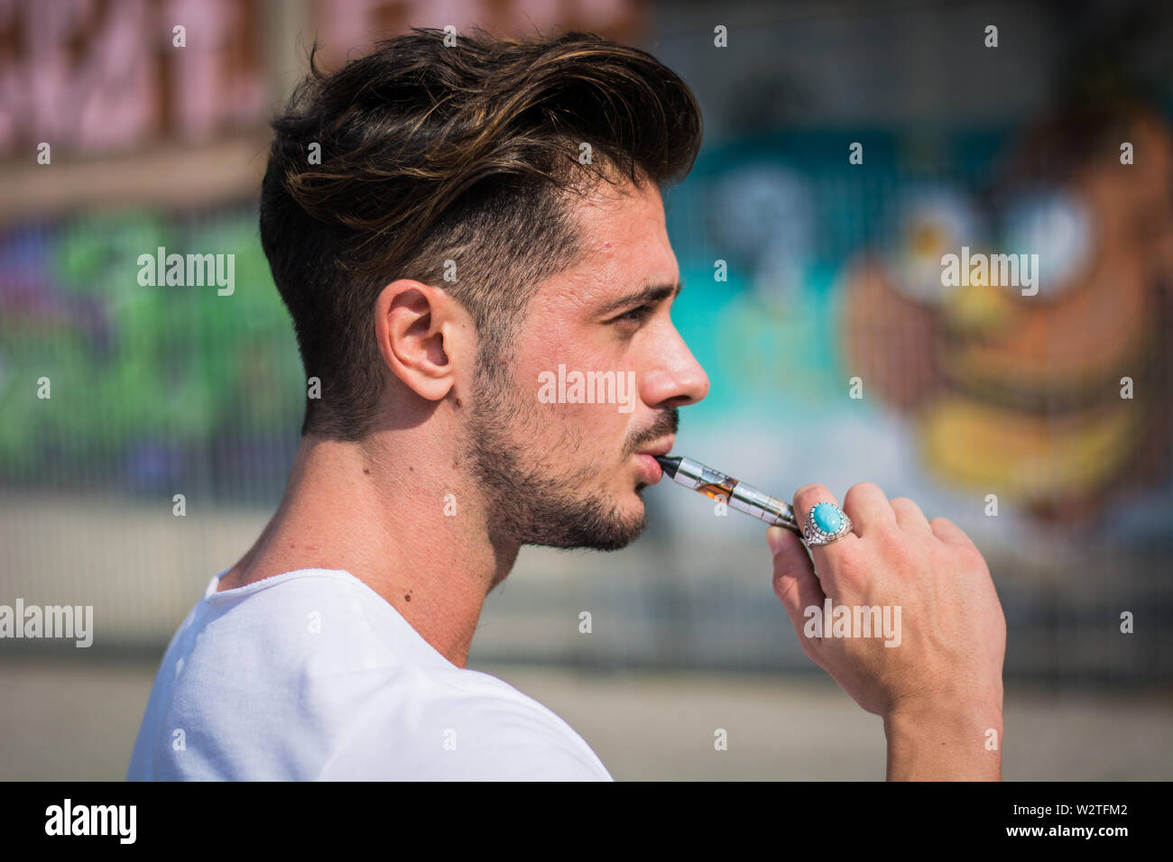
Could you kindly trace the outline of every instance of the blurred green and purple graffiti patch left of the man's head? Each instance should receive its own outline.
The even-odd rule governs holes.
[[[141,286],[138,256],[160,246],[235,256],[233,293]],[[35,476],[50,460],[116,470],[136,446],[297,428],[303,375],[255,213],[80,218],[59,226],[42,264],[53,311],[29,320],[0,306],[0,475]]]

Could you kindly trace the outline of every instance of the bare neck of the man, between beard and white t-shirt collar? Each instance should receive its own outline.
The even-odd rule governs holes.
[[[277,514],[219,589],[298,569],[343,569],[463,667],[484,597],[518,549],[490,542],[459,459],[415,430],[359,443],[303,437]]]

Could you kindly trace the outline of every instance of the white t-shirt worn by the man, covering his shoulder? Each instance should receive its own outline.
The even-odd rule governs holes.
[[[612,780],[565,721],[448,661],[350,572],[221,577],[163,656],[128,780]]]

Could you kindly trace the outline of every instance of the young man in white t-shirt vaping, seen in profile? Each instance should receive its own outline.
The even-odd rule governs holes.
[[[128,778],[610,779],[465,663],[521,545],[639,535],[653,456],[708,389],[669,315],[659,194],[696,158],[696,101],[596,36],[414,30],[332,76],[311,59],[273,125],[262,242],[320,398],[277,514],[172,639]],[[540,399],[560,365],[632,379],[632,409]],[[806,486],[795,508],[833,500]],[[884,717],[890,778],[998,778],[1005,625],[981,555],[875,486],[843,509],[819,576],[768,536],[804,649]],[[901,605],[901,647],[805,637],[828,597]]]

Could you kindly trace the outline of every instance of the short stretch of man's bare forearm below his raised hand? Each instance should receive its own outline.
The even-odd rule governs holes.
[[[1002,705],[941,704],[884,718],[889,781],[1001,781]]]

